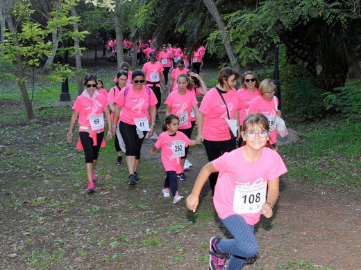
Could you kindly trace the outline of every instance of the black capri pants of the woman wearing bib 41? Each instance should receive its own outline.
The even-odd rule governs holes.
[[[119,122],[119,131],[126,145],[126,156],[135,156],[135,159],[140,159],[140,149],[148,132],[143,132],[144,137],[139,138],[136,125],[129,125],[121,121]]]

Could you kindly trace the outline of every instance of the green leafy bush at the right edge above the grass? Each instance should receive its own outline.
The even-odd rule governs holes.
[[[339,111],[351,121],[360,121],[361,82],[353,80],[344,87],[333,89],[333,93],[324,93],[324,104],[329,111]]]

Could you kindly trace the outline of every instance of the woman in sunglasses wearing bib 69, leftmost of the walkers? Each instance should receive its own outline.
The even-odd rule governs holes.
[[[87,192],[95,190],[94,182],[98,181],[94,174],[96,161],[98,161],[98,154],[100,147],[105,147],[104,141],[104,117],[103,112],[106,113],[106,120],[108,122],[108,138],[112,138],[112,120],[109,113],[109,102],[105,96],[96,91],[96,76],[87,75],[84,79],[86,89],[81,96],[76,98],[72,107],[73,114],[70,119],[69,132],[67,133],[67,142],[72,143],[73,128],[76,119],[79,116],[79,141],[76,149],[84,150],[85,153],[85,170],[87,172]]]

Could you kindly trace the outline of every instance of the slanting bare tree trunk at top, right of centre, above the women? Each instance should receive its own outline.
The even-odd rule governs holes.
[[[240,73],[241,75],[241,66],[240,63],[237,61],[237,57],[235,56],[235,49],[233,48],[233,45],[230,44],[228,35],[226,33],[226,25],[224,24],[223,19],[221,18],[221,15],[219,15],[218,8],[216,6],[215,1],[213,0],[203,0],[203,3],[207,7],[208,11],[210,12],[210,15],[212,15],[213,19],[216,21],[218,25],[218,29],[222,31],[223,37],[224,37],[224,48],[226,48],[226,52],[228,55],[228,58],[230,60],[230,64],[232,64],[232,68]],[[237,82],[237,85],[240,84],[240,82]]]

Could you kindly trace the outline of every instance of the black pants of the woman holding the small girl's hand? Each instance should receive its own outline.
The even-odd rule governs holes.
[[[227,141],[208,141],[203,140],[205,152],[207,152],[208,161],[214,161],[222,154],[235,150],[236,143],[235,138]],[[212,189],[212,196],[215,193],[215,186],[217,183],[218,172],[212,172],[210,174],[210,188]]]

